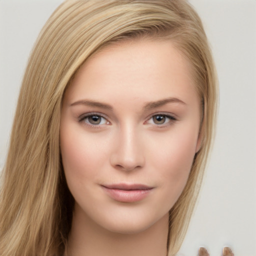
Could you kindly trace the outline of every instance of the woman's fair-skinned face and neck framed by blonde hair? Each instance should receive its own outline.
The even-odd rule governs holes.
[[[167,40],[119,42],[81,66],[61,110],[75,199],[66,255],[166,255],[168,211],[200,147],[199,102]]]

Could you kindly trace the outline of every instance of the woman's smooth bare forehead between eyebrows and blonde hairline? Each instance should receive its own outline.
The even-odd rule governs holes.
[[[133,93],[132,93],[133,92]],[[190,63],[168,40],[122,41],[103,47],[80,67],[66,91],[104,100],[107,95],[152,101],[194,94]]]

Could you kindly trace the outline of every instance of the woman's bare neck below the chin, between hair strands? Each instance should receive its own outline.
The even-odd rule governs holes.
[[[65,256],[166,256],[168,215],[135,233],[109,231],[74,210]]]

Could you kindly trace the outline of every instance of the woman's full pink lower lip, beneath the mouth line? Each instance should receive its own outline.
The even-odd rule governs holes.
[[[115,188],[108,188],[102,186],[104,191],[114,200],[119,202],[137,202],[144,199],[152,190],[148,189],[139,189],[139,190],[122,190]]]

